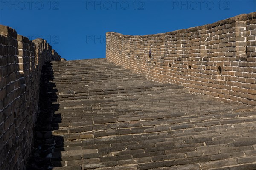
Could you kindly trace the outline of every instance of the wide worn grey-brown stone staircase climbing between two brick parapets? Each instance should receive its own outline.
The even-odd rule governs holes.
[[[41,166],[256,170],[255,107],[149,81],[105,58],[54,61],[45,70],[49,126],[35,141],[46,151]]]

